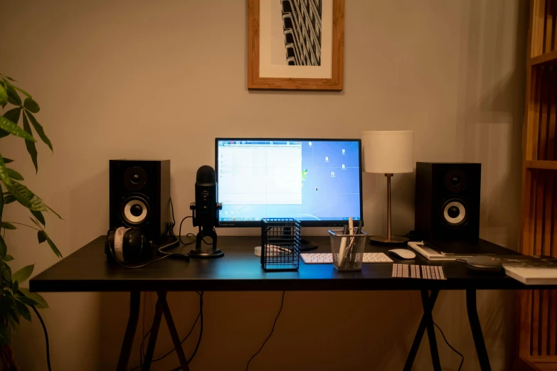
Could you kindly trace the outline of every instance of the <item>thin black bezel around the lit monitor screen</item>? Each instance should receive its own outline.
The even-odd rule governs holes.
[[[358,162],[360,166],[360,176],[359,176],[359,189],[360,189],[360,223],[364,225],[364,195],[362,189],[362,162],[361,162],[361,139],[354,138],[235,138],[235,137],[224,137],[215,138],[215,172],[218,174],[218,141],[357,141],[358,142]],[[218,183],[218,176],[217,176]],[[218,185],[217,185],[218,186]],[[218,194],[217,194],[218,198]],[[218,201],[218,200],[217,200]],[[348,225],[348,220],[300,220],[300,225],[302,227],[342,227]],[[218,220],[217,227],[261,227],[260,220],[250,220],[246,221],[224,221],[221,222],[220,217]]]

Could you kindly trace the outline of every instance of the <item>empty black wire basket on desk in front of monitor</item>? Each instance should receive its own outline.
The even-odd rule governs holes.
[[[265,271],[297,271],[299,222],[292,218],[261,220],[261,267]]]

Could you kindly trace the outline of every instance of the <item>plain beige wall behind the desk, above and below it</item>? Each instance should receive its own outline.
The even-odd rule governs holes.
[[[248,91],[243,0],[29,0],[4,1],[0,9],[0,71],[41,104],[36,117],[55,150],[51,156],[38,145],[37,176],[23,141],[2,139],[1,153],[16,158],[26,184],[63,215],[47,226],[64,256],[107,230],[110,158],[170,158],[171,194],[183,217],[196,169],[213,163],[215,136],[342,138],[370,129],[413,129],[417,161],[481,162],[482,237],[517,247],[524,0],[346,0],[343,92]],[[289,114],[277,114],[279,106]],[[393,232],[413,228],[413,181],[412,174],[393,178]],[[383,176],[364,174],[370,234],[386,229],[385,188]],[[26,213],[10,207],[7,219]],[[14,269],[36,263],[39,272],[56,262],[26,230],[6,238]],[[492,368],[509,370],[514,296],[479,296]],[[127,295],[45,297],[53,368],[115,367]],[[154,297],[147,299],[152,306]],[[184,335],[196,317],[196,294],[169,300]],[[244,370],[279,303],[278,292],[206,293],[192,370]],[[331,321],[346,313],[353,313],[349,330]],[[151,315],[149,308],[145,327]],[[287,292],[275,333],[250,370],[401,369],[420,316],[417,292]],[[463,370],[477,370],[464,293],[442,293],[434,316],[465,354]],[[457,370],[460,358],[437,338],[442,365]],[[170,344],[165,329],[156,355]],[[186,354],[193,345],[193,338],[186,342]],[[415,370],[431,367],[427,345],[424,338]],[[46,370],[38,321],[21,327],[14,348],[22,370]],[[176,365],[171,355],[152,369]]]

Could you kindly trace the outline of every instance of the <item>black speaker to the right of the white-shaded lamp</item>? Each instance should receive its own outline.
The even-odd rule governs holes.
[[[428,242],[479,238],[480,163],[416,163],[415,232]]]

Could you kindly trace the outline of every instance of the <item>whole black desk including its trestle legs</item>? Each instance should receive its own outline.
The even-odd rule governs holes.
[[[329,237],[309,237],[319,244],[314,252],[329,252]],[[334,290],[419,290],[423,303],[423,318],[418,326],[404,370],[410,370],[418,353],[425,331],[428,331],[434,370],[441,370],[432,311],[440,290],[466,290],[467,313],[482,371],[491,370],[482,329],[476,308],[476,290],[479,289],[549,289],[548,286],[526,286],[507,276],[478,276],[471,274],[465,264],[457,262],[429,262],[423,257],[402,260],[392,257],[395,263],[442,265],[447,277],[444,281],[425,279],[397,279],[391,277],[392,264],[363,264],[361,271],[341,272],[331,264],[306,265],[300,259],[299,271],[265,272],[260,258],[253,254],[253,247],[260,244],[260,237],[219,237],[223,258],[164,259],[142,269],[124,269],[108,265],[105,260],[105,237],[100,236],[62,261],[54,264],[31,279],[31,291],[129,291],[129,319],[120,351],[117,370],[127,370],[129,354],[139,318],[140,291],[157,291],[159,300],[147,345],[146,367],[152,360],[161,316],[169,325],[174,345],[179,338],[172,321],[166,293],[168,291],[334,291]],[[515,255],[509,249],[491,245],[500,255]],[[386,252],[388,247],[366,245],[366,252]],[[176,348],[182,368],[188,370],[181,346]]]

